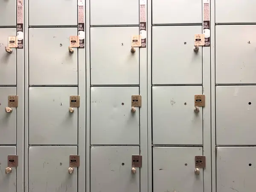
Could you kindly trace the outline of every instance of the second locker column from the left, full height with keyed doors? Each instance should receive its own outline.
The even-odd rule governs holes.
[[[25,4],[26,192],[85,189],[85,49],[78,37],[81,3]]]

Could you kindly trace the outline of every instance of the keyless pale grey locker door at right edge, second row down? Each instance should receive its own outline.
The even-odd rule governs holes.
[[[216,84],[256,83],[255,32],[256,25],[216,26]]]

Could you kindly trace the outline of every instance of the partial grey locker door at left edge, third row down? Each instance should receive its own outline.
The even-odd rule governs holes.
[[[16,87],[0,87],[0,144],[3,145],[16,144],[16,108],[6,110],[9,95],[16,95]]]

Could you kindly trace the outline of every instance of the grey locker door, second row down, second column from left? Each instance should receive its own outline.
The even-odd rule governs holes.
[[[77,28],[29,29],[30,85],[78,84],[77,48],[73,53],[68,49],[69,37],[74,35]]]

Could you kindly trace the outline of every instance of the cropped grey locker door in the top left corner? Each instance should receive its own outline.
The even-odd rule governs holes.
[[[16,26],[16,2],[17,0],[0,0],[0,26]],[[0,30],[0,38],[1,36]]]

